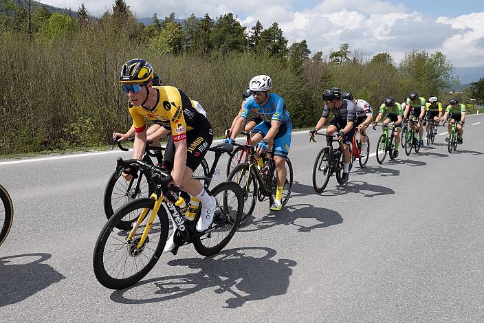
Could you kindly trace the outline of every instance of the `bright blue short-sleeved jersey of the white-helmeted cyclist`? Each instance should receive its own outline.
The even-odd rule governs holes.
[[[263,107],[256,103],[253,96],[247,98],[243,102],[240,116],[248,119],[251,111],[257,113],[267,122],[271,122],[271,120],[278,120],[282,124],[291,122],[291,116],[289,115],[289,111],[287,111],[284,99],[276,93],[270,93],[269,100]]]

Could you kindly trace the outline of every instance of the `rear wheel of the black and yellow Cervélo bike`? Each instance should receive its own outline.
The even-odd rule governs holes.
[[[217,254],[229,243],[239,227],[243,212],[242,190],[233,181],[219,183],[210,194],[217,199],[213,222],[193,240],[195,250],[202,256]]]

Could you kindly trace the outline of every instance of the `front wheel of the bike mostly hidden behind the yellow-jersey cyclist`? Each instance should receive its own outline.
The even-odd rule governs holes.
[[[104,214],[109,219],[114,211],[121,208],[122,205],[133,201],[133,199],[150,197],[154,191],[153,181],[148,179],[143,172],[138,172],[137,178],[133,178],[131,181],[126,181],[120,173],[113,172],[104,190]],[[130,230],[131,224],[135,221],[135,218],[125,218],[117,223],[118,229]]]

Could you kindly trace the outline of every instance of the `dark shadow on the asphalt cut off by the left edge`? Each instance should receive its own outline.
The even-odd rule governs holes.
[[[65,276],[43,263],[51,257],[39,253],[0,258],[0,307],[21,302],[63,280]]]

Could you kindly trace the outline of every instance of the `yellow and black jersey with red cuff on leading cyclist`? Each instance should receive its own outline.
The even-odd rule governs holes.
[[[135,131],[141,133],[146,129],[144,119],[161,124],[171,130],[174,142],[186,139],[186,132],[207,124],[206,119],[195,107],[185,93],[176,87],[153,87],[157,91],[158,100],[153,109],[135,106],[129,102],[129,114],[133,118]]]

